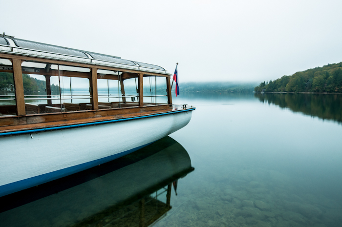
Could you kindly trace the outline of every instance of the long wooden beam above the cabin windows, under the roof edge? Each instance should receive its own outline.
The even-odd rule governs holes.
[[[115,68],[110,66],[102,66],[96,64],[86,64],[86,63],[78,63],[78,62],[68,62],[67,60],[51,60],[39,57],[28,57],[22,56],[19,54],[4,54],[0,53],[0,58],[9,58],[9,59],[20,59],[23,61],[34,61],[34,62],[44,62],[44,63],[52,63],[52,64],[61,64],[61,65],[69,65],[69,66],[77,66],[77,67],[85,67],[85,68],[93,68],[96,66],[97,69],[105,69],[105,70],[113,70],[119,72],[128,72],[128,73],[144,73],[149,76],[161,76],[161,77],[168,77],[170,75],[161,74],[161,73],[153,73],[153,72],[142,72],[134,69],[123,69],[123,68]]]

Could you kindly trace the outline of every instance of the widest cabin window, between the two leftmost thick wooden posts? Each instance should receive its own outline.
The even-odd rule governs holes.
[[[92,109],[90,69],[43,62],[22,62],[26,114]]]

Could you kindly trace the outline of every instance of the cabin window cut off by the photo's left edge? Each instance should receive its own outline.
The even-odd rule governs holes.
[[[12,62],[0,59],[0,117],[17,115]]]

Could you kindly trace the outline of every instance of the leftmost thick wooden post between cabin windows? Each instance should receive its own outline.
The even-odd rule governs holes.
[[[21,60],[12,59],[14,86],[16,91],[17,115],[25,115],[24,85],[22,84]]]

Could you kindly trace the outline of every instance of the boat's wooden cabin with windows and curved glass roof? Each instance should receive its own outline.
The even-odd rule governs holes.
[[[164,68],[0,35],[0,133],[172,111]]]

